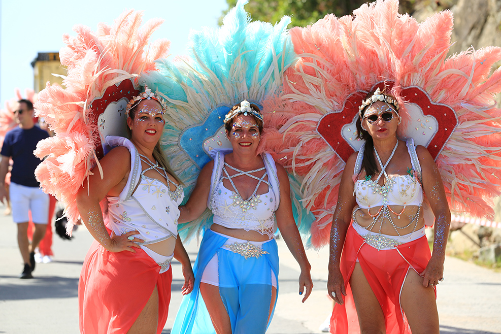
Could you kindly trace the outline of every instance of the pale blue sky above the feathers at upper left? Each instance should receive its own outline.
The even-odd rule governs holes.
[[[225,0],[0,0],[0,108],[19,88],[33,89],[31,61],[38,52],[59,51],[62,35],[75,35],[73,26],[84,24],[95,30],[97,23],[113,21],[125,10],[143,10],[143,22],[154,17],[165,20],[152,40],[171,41],[172,55],[185,54],[189,30],[216,27]]]

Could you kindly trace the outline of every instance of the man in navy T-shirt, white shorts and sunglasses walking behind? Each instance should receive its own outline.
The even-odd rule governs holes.
[[[35,269],[35,248],[44,238],[49,216],[49,195],[40,188],[35,178],[35,169],[41,160],[33,154],[37,143],[49,137],[47,131],[35,126],[33,104],[27,99],[19,101],[14,118],[19,127],[7,132],[0,152],[0,200],[4,202],[7,191],[4,180],[9,160],[14,164],[11,171],[10,198],[12,219],[17,223],[17,243],[24,261],[20,278],[33,278]],[[28,212],[35,223],[31,244],[28,241]]]

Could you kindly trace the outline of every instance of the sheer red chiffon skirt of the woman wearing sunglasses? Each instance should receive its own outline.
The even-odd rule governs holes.
[[[365,278],[379,301],[386,319],[387,334],[411,334],[407,318],[400,307],[400,293],[407,273],[414,270],[420,274],[431,257],[425,236],[396,246],[394,249],[378,251],[365,243],[352,225],[346,232],[341,256],[341,274],[347,295],[344,304],[336,304],[330,319],[330,332],[337,334],[359,333],[358,316],[355,309],[350,277],[358,259]]]

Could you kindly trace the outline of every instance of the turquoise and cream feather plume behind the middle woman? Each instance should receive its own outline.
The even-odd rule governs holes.
[[[201,129],[202,132],[195,135],[200,138],[193,139],[196,143],[215,136],[214,129],[211,133],[203,132],[209,128],[207,125],[212,125],[205,125],[209,116],[216,115],[214,122],[219,122],[219,128],[229,108],[243,99],[262,105],[264,112],[268,108],[263,103],[265,97],[278,94],[283,73],[295,60],[287,34],[290,19],[285,17],[276,25],[250,22],[244,10],[246,3],[239,0],[219,29],[191,31],[189,58],[158,60],[159,73],[150,72],[141,77],[169,102],[169,110],[164,116],[168,126],[163,133],[162,145],[175,172],[187,186],[186,194],[191,192],[209,157],[201,152],[204,160],[195,163],[202,157],[183,149],[180,144],[183,133],[188,129]],[[218,108],[225,111],[217,114]],[[265,133],[269,128],[272,126],[265,122]],[[265,140],[261,142],[260,148],[267,149]],[[300,208],[298,202],[296,204]],[[210,223],[211,216],[207,213],[201,219],[179,226],[180,235],[189,240]]]

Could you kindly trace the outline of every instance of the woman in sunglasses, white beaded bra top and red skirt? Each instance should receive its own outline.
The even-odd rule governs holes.
[[[365,144],[346,163],[331,229],[331,332],[358,332],[358,320],[360,332],[439,333],[435,286],[443,280],[451,215],[429,152],[397,138],[398,111],[379,88],[359,107]],[[436,217],[433,255],[424,198]]]

